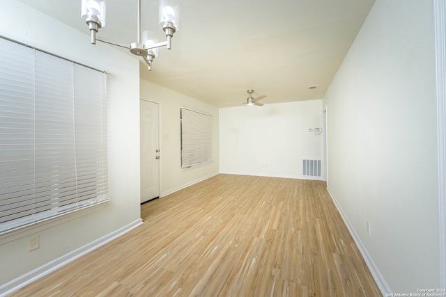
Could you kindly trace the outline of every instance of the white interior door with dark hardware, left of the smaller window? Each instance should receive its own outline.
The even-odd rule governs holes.
[[[160,196],[159,106],[139,100],[141,121],[141,203]]]

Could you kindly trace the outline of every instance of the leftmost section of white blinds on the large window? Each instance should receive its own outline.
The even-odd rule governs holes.
[[[33,215],[33,56],[33,49],[0,38],[0,228]]]

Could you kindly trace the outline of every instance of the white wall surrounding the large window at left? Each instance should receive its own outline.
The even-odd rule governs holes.
[[[98,45],[91,45],[88,28],[85,29],[84,33],[71,29],[15,0],[1,1],[0,35],[109,71],[107,100],[111,201],[93,214],[59,223],[46,230],[33,230],[33,234],[40,235],[40,248],[33,252],[28,252],[31,235],[26,232],[0,241],[0,295],[3,284],[14,280],[9,283],[14,286],[21,281],[17,278],[25,273],[89,245],[102,236],[140,222],[139,64],[136,59],[99,42]]]

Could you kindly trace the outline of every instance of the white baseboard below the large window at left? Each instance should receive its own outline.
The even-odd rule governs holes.
[[[60,268],[72,262],[73,260],[91,252],[92,250],[95,250],[96,248],[105,245],[105,243],[112,241],[113,239],[116,239],[117,237],[129,232],[130,230],[134,229],[135,227],[138,227],[141,224],[142,224],[141,218],[139,218],[138,220],[134,220],[134,222],[125,225],[124,227],[112,233],[102,236],[100,239],[92,241],[91,243],[88,243],[85,246],[77,248],[72,252],[68,252],[68,254],[63,255],[62,257],[59,257],[57,259],[54,259],[52,262],[40,266],[34,269],[33,271],[30,271],[29,273],[26,273],[20,276],[19,278],[16,278],[15,280],[11,280],[10,282],[3,284],[2,286],[0,286],[0,297],[6,296],[8,294],[13,293],[14,291],[17,291],[18,289],[24,287],[26,284],[38,280],[39,278],[42,278],[48,273],[55,271],[57,268]]]

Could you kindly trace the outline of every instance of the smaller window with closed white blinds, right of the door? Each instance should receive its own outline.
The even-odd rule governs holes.
[[[181,168],[212,161],[212,115],[180,109]]]

